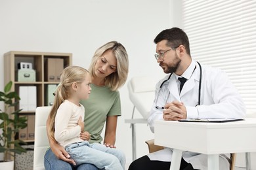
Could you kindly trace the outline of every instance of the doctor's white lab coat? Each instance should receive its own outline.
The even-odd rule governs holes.
[[[194,69],[195,65],[196,69]],[[181,94],[179,94],[175,74],[173,74],[169,80],[167,80],[169,75],[165,76],[165,78],[156,84],[155,100],[150,111],[150,117],[148,118],[148,124],[153,133],[155,120],[163,120],[163,110],[156,109],[156,106],[161,108],[165,103],[174,100],[182,101],[184,103],[187,111],[187,118],[245,117],[245,105],[242,101],[242,97],[230,82],[226,73],[221,71],[221,69],[202,65],[201,105],[198,105],[200,80],[200,67],[198,63],[192,60],[192,63],[183,75],[191,76],[184,84]],[[160,85],[164,80],[167,81],[163,84],[160,90]],[[165,150],[160,150],[149,154],[148,156],[150,160],[170,161],[172,150],[170,148],[165,148]],[[195,169],[207,169],[207,156],[192,152],[184,152],[182,156],[184,160],[192,163]],[[228,161],[220,156],[220,169],[228,169],[228,167]]]

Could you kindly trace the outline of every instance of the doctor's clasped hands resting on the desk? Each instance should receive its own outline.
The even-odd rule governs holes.
[[[186,119],[186,107],[180,101],[173,101],[165,105],[163,120]]]

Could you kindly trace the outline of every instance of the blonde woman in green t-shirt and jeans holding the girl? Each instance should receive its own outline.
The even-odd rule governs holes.
[[[117,91],[127,80],[129,67],[128,55],[122,44],[108,42],[98,48],[93,56],[89,72],[92,75],[90,98],[81,101],[85,110],[85,132],[81,139],[90,143],[101,143],[100,136],[106,123],[104,145],[115,148],[117,116],[121,116],[121,103]],[[49,121],[47,120],[47,128]],[[48,129],[47,129],[48,131]],[[48,134],[49,135],[49,134]],[[45,169],[72,169],[75,161],[70,159],[66,150],[48,136],[51,149],[45,153]],[[84,163],[77,169],[97,170],[94,165]]]

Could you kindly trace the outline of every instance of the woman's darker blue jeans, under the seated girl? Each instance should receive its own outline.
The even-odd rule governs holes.
[[[83,163],[79,165],[78,167],[74,168],[73,165],[66,161],[59,160],[54,154],[51,149],[47,150],[45,153],[45,170],[55,170],[55,169],[62,169],[62,170],[72,170],[72,169],[77,169],[77,170],[98,170],[95,165],[92,165],[90,163]]]

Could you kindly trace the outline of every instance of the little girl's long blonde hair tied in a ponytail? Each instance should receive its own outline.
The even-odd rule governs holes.
[[[60,84],[58,84],[56,89],[53,107],[50,112],[51,121],[48,132],[53,139],[55,116],[58,107],[60,107],[60,104],[63,103],[65,99],[68,99],[73,82],[79,84],[85,80],[85,76],[89,75],[90,73],[87,69],[78,66],[69,66],[62,71],[62,74],[60,75]],[[54,141],[56,140],[54,139]]]

